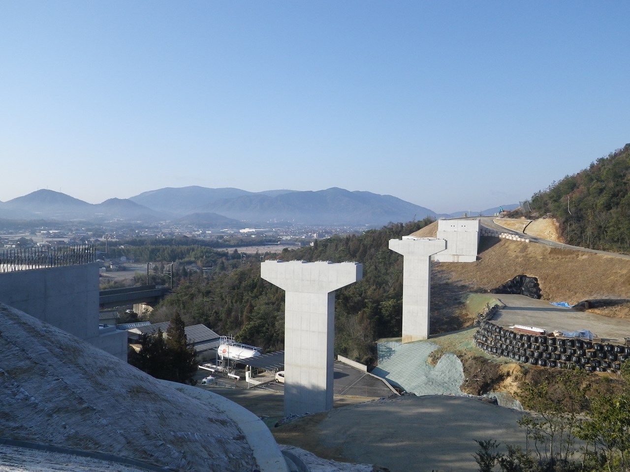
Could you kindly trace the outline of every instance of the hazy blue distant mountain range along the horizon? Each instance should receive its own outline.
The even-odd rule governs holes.
[[[516,205],[504,208],[513,206]],[[471,216],[478,214],[473,212]],[[351,192],[341,188],[248,192],[237,188],[190,186],[152,190],[129,199],[111,198],[96,205],[42,189],[0,202],[0,218],[4,219],[84,220],[94,223],[169,221],[197,227],[237,228],[244,224],[268,227],[283,222],[380,226],[389,222],[421,220],[427,216],[461,215],[438,215],[428,208],[391,195]]]

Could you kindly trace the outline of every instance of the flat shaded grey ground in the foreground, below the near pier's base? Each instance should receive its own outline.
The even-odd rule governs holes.
[[[475,442],[525,447],[523,413],[461,396],[403,396],[336,408],[318,424],[319,441],[358,463],[392,472],[474,471]]]

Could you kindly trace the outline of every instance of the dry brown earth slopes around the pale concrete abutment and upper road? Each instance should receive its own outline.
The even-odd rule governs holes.
[[[515,227],[526,227],[525,232],[530,235],[561,239],[558,225],[551,218],[531,223],[497,220],[506,227],[510,221]],[[417,237],[436,235],[437,222],[413,233]],[[477,262],[435,264],[432,298],[446,293],[457,304],[457,293],[488,291],[520,274],[538,279],[544,300],[567,301],[571,305],[591,300],[590,312],[630,317],[630,305],[626,303],[630,299],[630,259],[496,237],[481,237]]]

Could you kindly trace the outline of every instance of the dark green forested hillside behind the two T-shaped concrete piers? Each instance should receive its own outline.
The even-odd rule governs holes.
[[[433,220],[391,223],[362,235],[335,236],[313,246],[285,249],[285,261],[355,261],[364,264],[364,279],[336,291],[335,352],[362,362],[372,359],[370,346],[379,337],[401,335],[403,259],[388,249]],[[251,258],[254,259],[254,258]],[[266,351],[284,346],[284,291],[260,278],[260,262],[190,278],[160,305],[152,321],[166,321],[180,311],[186,325],[205,323],[219,334],[232,334]]]

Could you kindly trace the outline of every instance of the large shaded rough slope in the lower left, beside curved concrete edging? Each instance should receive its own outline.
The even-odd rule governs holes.
[[[2,437],[181,471],[256,468],[243,432],[218,408],[3,304],[0,346]]]

